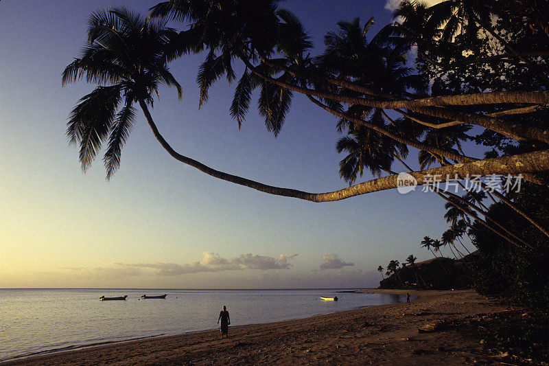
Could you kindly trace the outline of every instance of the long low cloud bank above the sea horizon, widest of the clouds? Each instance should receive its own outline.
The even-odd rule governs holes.
[[[242,254],[231,259],[222,258],[218,253],[202,252],[200,261],[186,264],[176,263],[112,263],[106,267],[94,268],[65,268],[73,273],[93,276],[133,276],[133,275],[160,275],[178,276],[190,273],[205,273],[218,271],[242,271],[257,269],[266,271],[270,269],[289,269],[290,260],[297,254],[281,254],[277,257],[269,257],[258,254]]]

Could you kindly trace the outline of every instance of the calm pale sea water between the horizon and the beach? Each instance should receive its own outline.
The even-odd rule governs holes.
[[[388,294],[324,290],[0,290],[0,361],[86,345],[217,328],[221,307],[231,325],[311,317],[406,301]],[[166,299],[139,299],[143,294]],[[128,295],[126,301],[99,297]],[[340,301],[320,301],[320,296]]]

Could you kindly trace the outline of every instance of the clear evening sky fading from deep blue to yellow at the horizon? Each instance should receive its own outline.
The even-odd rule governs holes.
[[[65,129],[94,85],[62,87],[62,70],[79,56],[91,12],[126,5],[145,13],[156,2],[0,2],[0,288],[376,287],[377,266],[410,254],[430,258],[419,242],[447,228],[434,194],[391,190],[334,203],[270,196],[172,159],[139,114],[113,179],[105,179],[102,155],[84,174]],[[316,53],[337,21],[374,16],[373,35],[393,21],[394,5],[283,3],[303,21]],[[270,185],[347,186],[338,174],[335,117],[296,95],[278,137],[254,108],[239,130],[229,115],[234,84],[215,84],[198,108],[203,58],[170,64],[183,100],[160,89],[154,102],[152,117],[175,150]]]

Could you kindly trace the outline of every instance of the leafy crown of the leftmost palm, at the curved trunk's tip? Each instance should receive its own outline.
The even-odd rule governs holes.
[[[91,14],[82,56],[62,73],[63,86],[85,78],[98,86],[84,95],[67,122],[67,137],[80,146],[82,170],[91,165],[102,143],[107,179],[119,168],[122,146],[135,122],[137,102],[153,104],[160,86],[183,89],[167,64],[178,55],[171,47],[176,36],[165,21],[145,19],[126,8]],[[145,112],[145,115],[148,111]]]

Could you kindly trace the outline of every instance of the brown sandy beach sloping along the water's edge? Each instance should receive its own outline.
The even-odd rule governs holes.
[[[364,290],[406,293],[406,290]],[[418,328],[434,321],[456,323],[507,308],[473,290],[409,291],[412,304],[391,304],[307,319],[231,326],[218,330],[113,343],[9,361],[2,365],[235,365],[375,364],[469,365],[496,363],[478,340],[464,339],[455,326],[431,333]]]

